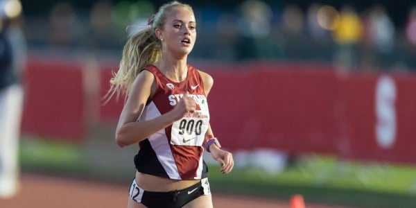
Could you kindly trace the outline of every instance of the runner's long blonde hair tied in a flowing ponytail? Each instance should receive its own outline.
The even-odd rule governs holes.
[[[149,64],[155,64],[162,55],[162,44],[155,35],[156,28],[164,28],[166,16],[173,8],[181,6],[192,10],[191,6],[178,1],[165,3],[157,13],[150,17],[148,26],[138,33],[131,35],[123,48],[123,55],[119,64],[119,71],[110,79],[110,89],[105,95],[107,101],[114,94],[119,98],[124,94],[127,98],[130,88],[137,75]],[[107,102],[106,101],[106,102]]]

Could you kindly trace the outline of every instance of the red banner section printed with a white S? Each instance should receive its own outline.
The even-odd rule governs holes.
[[[356,75],[345,81],[343,138],[349,158],[416,162],[416,76]]]

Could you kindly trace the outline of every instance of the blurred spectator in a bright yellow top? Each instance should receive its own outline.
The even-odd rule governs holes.
[[[338,69],[356,69],[358,62],[358,43],[361,41],[363,23],[352,6],[343,6],[338,22],[333,30],[336,42],[335,62]]]

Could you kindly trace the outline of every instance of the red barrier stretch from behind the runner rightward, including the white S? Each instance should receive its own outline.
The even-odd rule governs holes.
[[[214,78],[211,126],[229,150],[416,162],[414,74],[338,74],[318,64],[202,66]],[[116,119],[121,107],[110,103],[101,116]]]

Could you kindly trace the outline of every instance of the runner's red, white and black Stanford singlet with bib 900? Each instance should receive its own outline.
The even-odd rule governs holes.
[[[157,89],[146,103],[139,121],[169,112],[187,92],[196,101],[196,110],[139,143],[140,150],[135,155],[137,171],[174,180],[207,177],[202,143],[209,125],[209,110],[200,73],[188,65],[187,79],[174,83],[154,65],[144,70],[153,73]]]

